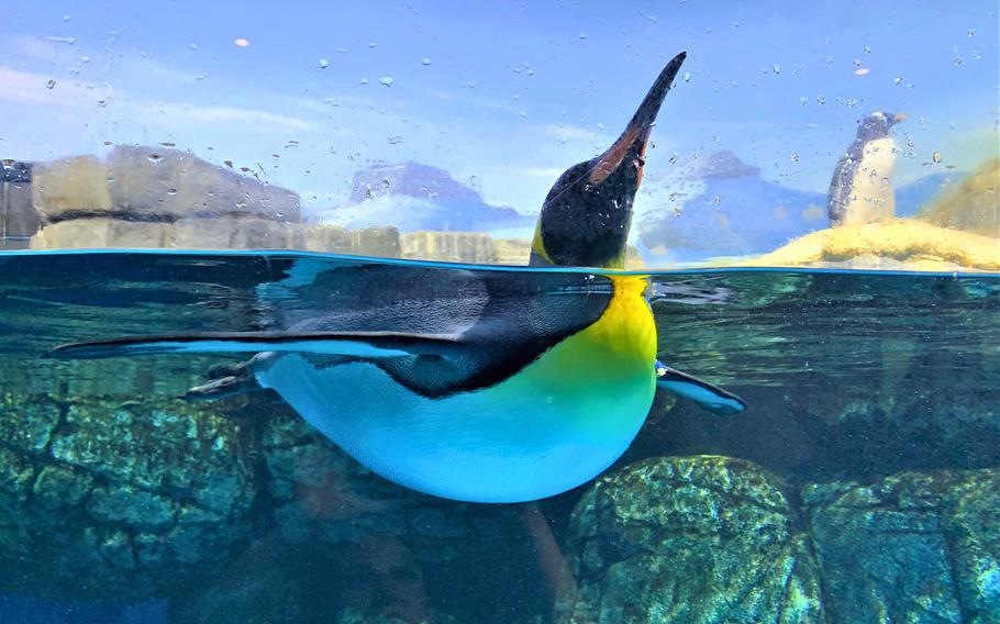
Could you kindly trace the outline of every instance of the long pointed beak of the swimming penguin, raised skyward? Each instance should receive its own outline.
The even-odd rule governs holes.
[[[656,78],[656,82],[653,83],[649,92],[646,93],[646,97],[638,105],[638,110],[632,115],[632,121],[629,122],[625,132],[618,137],[618,141],[607,152],[598,157],[597,165],[590,171],[590,183],[599,185],[603,182],[623,163],[629,165],[629,160],[632,160],[631,164],[638,169],[636,187],[638,186],[638,181],[642,180],[643,165],[645,164],[646,145],[649,143],[649,133],[656,122],[656,114],[659,112],[659,107],[663,104],[664,98],[670,90],[674,78],[677,77],[677,71],[687,56],[686,52],[681,52],[663,68],[663,71]]]

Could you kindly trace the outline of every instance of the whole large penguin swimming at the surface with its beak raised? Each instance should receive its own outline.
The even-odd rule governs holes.
[[[643,155],[684,59],[664,68],[607,152],[558,179],[532,265],[623,266]],[[432,289],[423,300],[408,302],[410,285],[396,280],[398,290],[380,285],[392,290],[386,305],[330,310],[281,332],[114,338],[54,355],[257,352],[198,393],[273,389],[382,477],[477,502],[541,499],[599,475],[635,437],[657,380],[714,411],[742,409],[735,397],[656,360],[642,278],[420,270],[445,282],[412,280]]]

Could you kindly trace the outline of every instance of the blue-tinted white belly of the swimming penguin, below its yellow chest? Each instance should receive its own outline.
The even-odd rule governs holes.
[[[443,399],[415,394],[368,363],[318,369],[297,354],[274,358],[257,379],[391,481],[457,500],[518,502],[600,473],[653,402],[652,366],[565,369],[564,347],[496,386]]]

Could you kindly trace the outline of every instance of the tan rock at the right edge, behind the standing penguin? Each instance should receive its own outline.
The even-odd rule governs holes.
[[[992,158],[925,207],[920,218],[942,227],[954,227],[1000,237],[1000,158]]]

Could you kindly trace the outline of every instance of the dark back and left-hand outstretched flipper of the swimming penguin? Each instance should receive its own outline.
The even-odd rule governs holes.
[[[516,374],[593,324],[614,292],[611,279],[586,274],[369,265],[321,269],[304,285],[302,271],[291,277],[300,283],[268,283],[262,293],[267,314],[285,328],[116,337],[62,345],[49,355],[297,353],[320,368],[369,360],[410,391],[443,398]]]

